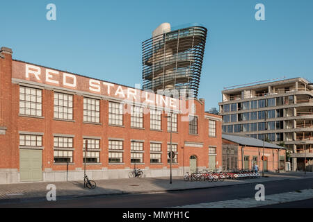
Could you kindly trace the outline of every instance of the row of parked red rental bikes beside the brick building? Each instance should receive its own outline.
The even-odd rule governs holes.
[[[260,174],[250,169],[233,169],[228,171],[212,171],[204,169],[198,173],[187,172],[184,176],[185,181],[208,181],[217,182],[224,180],[244,180],[259,178]]]

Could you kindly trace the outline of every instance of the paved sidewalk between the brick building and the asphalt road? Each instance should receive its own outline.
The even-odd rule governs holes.
[[[201,189],[208,187],[222,187],[242,185],[246,183],[262,183],[274,180],[299,180],[313,178],[308,172],[266,173],[266,177],[250,180],[225,180],[223,182],[194,181],[185,182],[182,177],[173,177],[172,185],[166,178],[127,178],[114,180],[96,180],[95,189],[83,188],[83,181],[70,182],[31,182],[14,185],[0,185],[0,205],[6,203],[19,203],[28,200],[46,200],[49,190],[47,185],[56,186],[56,199],[80,198],[87,196],[114,195],[114,194],[149,194],[184,189]]]

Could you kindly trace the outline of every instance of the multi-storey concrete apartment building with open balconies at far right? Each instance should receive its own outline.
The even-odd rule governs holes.
[[[313,87],[305,78],[276,80],[222,91],[223,132],[284,142],[291,169],[312,171]],[[306,160],[306,162],[305,162]]]

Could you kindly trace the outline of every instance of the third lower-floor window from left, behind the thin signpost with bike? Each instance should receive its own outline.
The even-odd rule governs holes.
[[[100,139],[83,139],[83,153],[85,157],[85,148],[87,142],[86,163],[100,162]],[[85,158],[83,158],[85,162]]]

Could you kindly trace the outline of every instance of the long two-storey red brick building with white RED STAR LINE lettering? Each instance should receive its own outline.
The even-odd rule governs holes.
[[[0,50],[0,183],[168,176],[222,164],[221,118],[179,100],[12,59]],[[165,118],[170,115],[171,118]],[[210,160],[210,161],[209,161]]]

